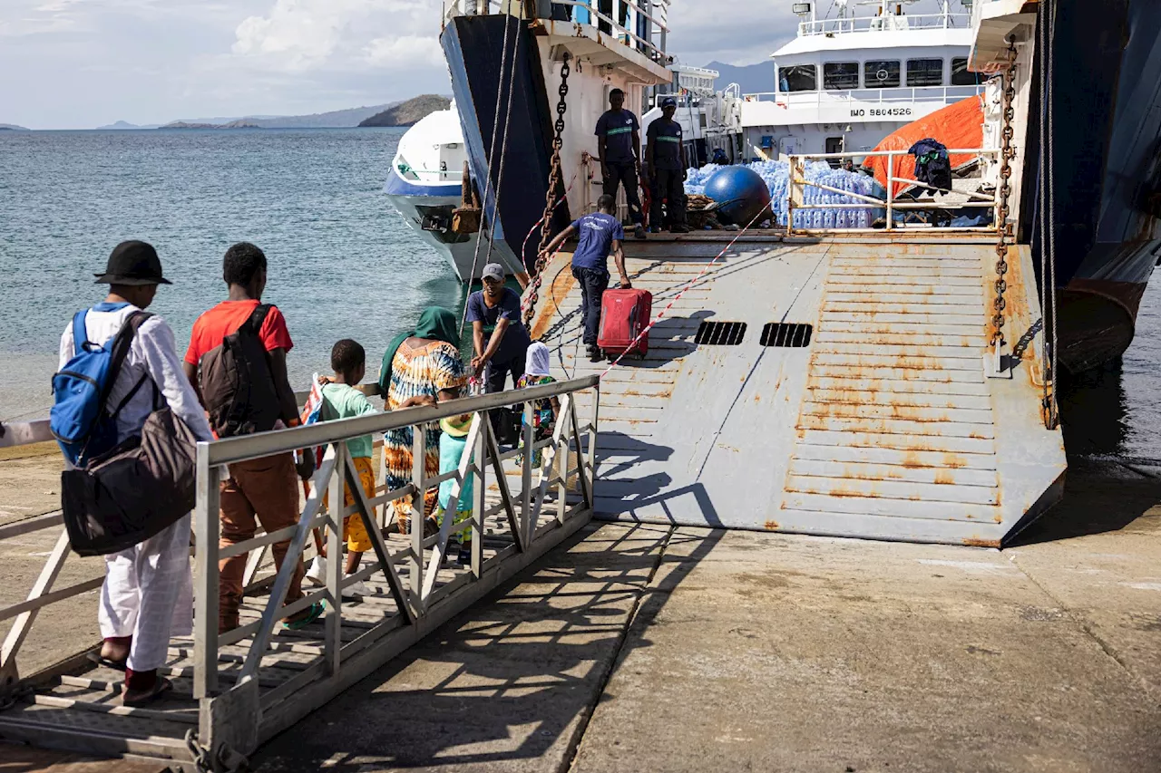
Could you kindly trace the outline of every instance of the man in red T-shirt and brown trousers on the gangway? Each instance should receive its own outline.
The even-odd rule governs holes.
[[[223,261],[223,279],[229,286],[229,298],[204,312],[194,323],[194,331],[186,352],[183,369],[203,406],[211,409],[214,419],[212,395],[203,390],[212,389],[205,378],[205,364],[210,357],[219,357],[223,341],[229,335],[241,334],[243,327],[259,309],[262,290],[266,288],[266,254],[254,245],[243,241],[230,247]],[[266,353],[268,378],[272,384],[257,384],[248,393],[271,395],[269,402],[275,405],[250,406],[251,416],[265,416],[269,419],[266,426],[261,421],[248,421],[238,434],[276,428],[293,427],[298,424],[298,407],[287,377],[287,352],[294,347],[286,319],[277,306],[265,309],[265,318],[257,331],[261,348]],[[209,355],[209,357],[207,356]],[[201,368],[201,374],[199,369]],[[264,389],[258,389],[262,386]],[[245,406],[244,406],[245,412]],[[277,424],[281,421],[281,425]],[[211,421],[212,424],[212,421]],[[255,426],[257,424],[257,426]],[[273,425],[273,426],[271,426]],[[221,433],[218,426],[215,431]],[[262,523],[267,533],[294,526],[298,520],[298,484],[295,472],[294,454],[276,454],[264,458],[237,462],[230,465],[230,477],[221,484],[221,547],[244,542],[254,536],[257,523]],[[274,563],[281,569],[290,541],[276,542],[273,546]],[[223,559],[218,565],[221,575],[218,598],[218,633],[225,633],[238,627],[238,609],[241,606],[243,576],[246,569],[246,554]],[[287,591],[286,604],[293,604],[302,598],[302,578],[304,569],[302,559],[297,561],[294,579]],[[283,619],[288,628],[301,628],[318,619],[323,612],[322,604],[315,604],[289,617]]]

